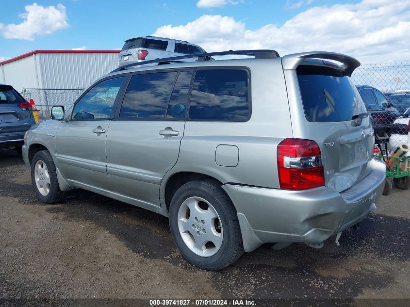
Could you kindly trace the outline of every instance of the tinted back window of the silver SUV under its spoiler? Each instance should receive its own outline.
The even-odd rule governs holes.
[[[300,65],[296,72],[308,121],[341,122],[366,113],[356,87],[343,71]]]

